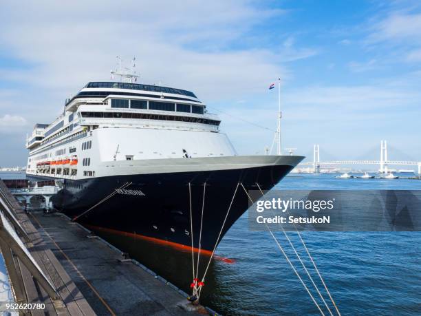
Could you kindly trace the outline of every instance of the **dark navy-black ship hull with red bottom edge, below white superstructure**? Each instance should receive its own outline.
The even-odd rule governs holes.
[[[248,209],[247,190],[274,187],[293,166],[62,179],[54,207],[92,231],[103,231],[204,253]],[[237,189],[237,191],[236,191]],[[236,192],[235,192],[236,191]],[[106,199],[106,200],[104,200]],[[222,235],[224,218],[232,202]],[[191,210],[191,211],[190,211]],[[203,210],[203,219],[202,219]],[[191,216],[192,213],[192,216]],[[200,227],[202,222],[202,238]]]

